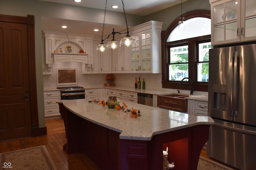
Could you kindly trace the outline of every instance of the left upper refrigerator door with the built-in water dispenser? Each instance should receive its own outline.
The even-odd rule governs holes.
[[[209,50],[208,115],[232,121],[232,60],[234,47]]]

